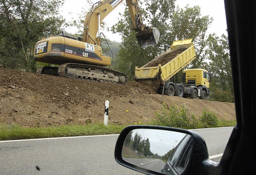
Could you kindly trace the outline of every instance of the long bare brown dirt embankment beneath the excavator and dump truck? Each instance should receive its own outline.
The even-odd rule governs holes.
[[[143,124],[162,108],[156,83],[116,85],[0,69],[0,122],[27,127],[103,122],[108,100],[109,123]],[[232,103],[176,96],[163,96],[163,101],[167,105],[186,104],[196,116],[205,108],[219,117],[235,118]]]

